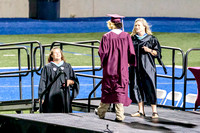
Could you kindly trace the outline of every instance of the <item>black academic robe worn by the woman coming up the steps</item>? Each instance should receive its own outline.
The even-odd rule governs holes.
[[[42,105],[42,109],[44,113],[72,112],[71,103],[72,100],[78,95],[79,81],[69,63],[64,62],[60,67],[53,63],[48,63],[43,67],[38,89],[39,98],[61,71],[65,74],[60,75],[60,77],[53,83],[50,90],[47,91],[43,97],[44,103]],[[63,84],[65,84],[67,79],[73,80],[74,85],[70,85],[67,88],[63,87]]]

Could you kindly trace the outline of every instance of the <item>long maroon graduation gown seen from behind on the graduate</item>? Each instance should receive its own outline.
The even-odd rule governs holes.
[[[99,56],[103,68],[102,103],[131,104],[128,97],[128,63],[135,64],[135,50],[127,32],[116,34],[112,31],[103,35]]]

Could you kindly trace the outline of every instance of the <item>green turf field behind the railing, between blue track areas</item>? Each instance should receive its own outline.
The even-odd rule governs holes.
[[[100,40],[104,33],[73,33],[73,34],[38,34],[38,35],[1,35],[1,43],[14,43],[14,42],[24,42],[24,41],[34,41],[37,40],[43,45],[51,44],[54,41],[64,41],[64,42],[76,42],[76,41],[86,41],[86,40]],[[181,48],[186,52],[190,48],[200,47],[200,34],[196,33],[160,33],[156,32],[154,35],[158,38],[161,46],[170,46]],[[98,46],[98,44],[95,44]],[[91,50],[87,48],[80,47],[70,47],[65,46],[64,51],[91,54]],[[22,66],[27,66],[26,55],[24,50],[22,50]],[[46,50],[46,55],[49,51]],[[165,65],[171,65],[172,52],[166,49],[162,50],[163,62]],[[74,55],[71,53],[64,53],[72,66],[91,66],[91,57],[83,55]],[[4,55],[4,56],[3,56]],[[5,56],[10,55],[10,56]],[[13,56],[12,56],[13,55]],[[0,67],[17,67],[17,55],[16,50],[5,50],[0,51]],[[97,50],[95,50],[95,55],[98,56]],[[200,66],[199,57],[200,52],[192,52],[189,56],[190,66]],[[39,57],[39,56],[38,56]],[[37,64],[39,59],[37,57]],[[182,56],[180,52],[176,52],[175,56],[176,64],[182,65]],[[46,56],[47,58],[47,56]],[[100,65],[99,58],[95,58],[95,64]]]

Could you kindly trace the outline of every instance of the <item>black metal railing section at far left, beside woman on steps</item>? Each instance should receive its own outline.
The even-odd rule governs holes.
[[[34,50],[34,44],[37,44],[40,48],[40,65],[37,68],[35,64],[35,53]],[[22,46],[23,45],[23,46]],[[28,46],[29,45],[29,46]],[[28,50],[28,48],[30,50]],[[22,99],[22,77],[27,76],[29,73],[31,73],[31,99],[32,99],[32,110],[31,112],[34,112],[34,72],[39,71],[42,68],[42,60],[43,60],[43,54],[42,54],[42,45],[38,41],[28,41],[28,42],[19,42],[19,43],[8,43],[8,44],[1,44],[0,50],[17,50],[18,52],[18,70],[17,71],[4,71],[0,72],[0,78],[3,77],[19,77],[19,89],[20,89],[20,100]],[[24,49],[26,52],[26,59],[27,59],[27,66],[26,70],[22,70],[21,66],[21,50]],[[30,53],[29,53],[30,52]]]

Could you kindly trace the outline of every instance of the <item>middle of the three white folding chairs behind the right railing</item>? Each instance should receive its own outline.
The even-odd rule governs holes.
[[[175,105],[176,107],[178,106],[181,98],[182,98],[182,93],[175,91],[174,92],[174,101],[177,101],[177,103]],[[167,100],[172,100],[172,91],[167,94],[167,97],[166,97],[165,101],[163,102],[163,105],[165,105]]]

